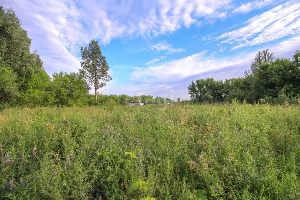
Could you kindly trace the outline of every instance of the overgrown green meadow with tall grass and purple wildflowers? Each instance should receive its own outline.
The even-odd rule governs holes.
[[[299,199],[300,108],[6,109],[0,199]]]

